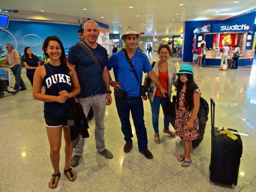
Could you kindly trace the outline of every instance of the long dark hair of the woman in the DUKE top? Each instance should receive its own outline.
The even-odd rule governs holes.
[[[64,67],[65,72],[67,72],[67,73],[70,72],[70,69],[68,68],[68,65],[66,62],[66,55],[65,55],[63,44],[57,36],[46,37],[46,39],[44,40],[44,44],[42,46],[42,49],[44,50],[44,55],[46,55],[48,58],[50,58],[48,53],[46,53],[46,50],[47,50],[47,47],[48,47],[50,41],[56,41],[60,44],[60,49],[61,49],[60,63]]]

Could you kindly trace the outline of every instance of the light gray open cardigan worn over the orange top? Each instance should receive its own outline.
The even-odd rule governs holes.
[[[153,71],[155,72],[156,76],[158,77],[158,63],[159,60],[156,61],[154,67],[153,67]],[[168,96],[171,99],[172,96],[172,84],[174,82],[176,82],[176,80],[178,79],[176,76],[176,67],[174,64],[172,64],[172,62],[170,62],[170,60],[167,61],[168,64],[168,77],[169,77],[169,82],[168,82]],[[146,74],[145,79],[148,79],[148,74]],[[153,93],[148,93],[148,99],[152,102],[154,100],[154,96],[156,94],[156,85],[154,84],[154,82],[151,81],[150,87],[153,87]]]

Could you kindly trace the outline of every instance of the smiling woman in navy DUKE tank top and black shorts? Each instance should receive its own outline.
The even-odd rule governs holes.
[[[70,181],[76,179],[76,173],[70,168],[73,147],[70,126],[67,124],[67,108],[64,103],[67,105],[74,103],[74,97],[80,93],[80,85],[74,68],[67,66],[64,47],[57,36],[48,36],[44,41],[43,49],[44,54],[50,58],[50,62],[36,69],[33,97],[44,102],[44,120],[50,143],[50,159],[54,168],[54,174],[52,174],[48,186],[56,188],[60,179],[62,129],[65,139],[64,174]],[[41,94],[42,84],[45,87],[45,94]]]

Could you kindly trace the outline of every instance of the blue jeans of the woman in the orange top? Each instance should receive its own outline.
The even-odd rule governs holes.
[[[153,102],[150,101],[151,112],[152,112],[152,124],[153,124],[155,133],[159,133],[158,118],[159,118],[159,112],[160,112],[160,105],[162,106],[162,109],[163,109],[165,102],[167,102],[167,98],[161,98],[161,97],[154,97]],[[166,114],[164,112],[164,129],[165,130],[169,129],[169,124],[170,122],[168,121]]]

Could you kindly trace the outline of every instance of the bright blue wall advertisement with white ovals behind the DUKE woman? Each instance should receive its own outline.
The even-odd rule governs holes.
[[[29,46],[33,54],[44,59],[42,45],[47,36],[56,35],[62,41],[66,56],[68,49],[78,42],[78,29],[81,26],[68,24],[54,24],[44,22],[10,21],[8,28],[0,28],[0,62],[6,58],[6,44],[14,44],[20,56],[24,48]]]

